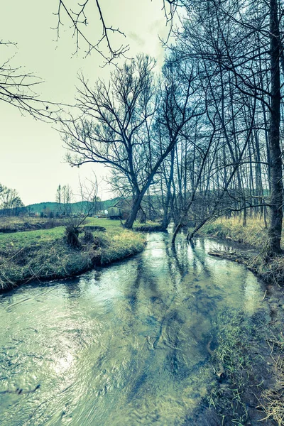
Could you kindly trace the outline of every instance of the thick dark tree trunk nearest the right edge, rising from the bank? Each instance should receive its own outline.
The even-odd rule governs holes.
[[[280,67],[279,24],[277,0],[271,0],[271,111],[269,151],[271,157],[271,222],[268,228],[268,251],[279,253],[283,221],[283,181],[280,150]]]

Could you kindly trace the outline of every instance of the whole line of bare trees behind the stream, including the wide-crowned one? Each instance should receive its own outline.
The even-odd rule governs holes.
[[[172,0],[163,6],[175,38],[171,45],[168,40],[163,70],[138,55],[116,66],[109,82],[82,75],[74,109],[56,116],[67,160],[111,168],[113,190],[131,199],[126,228],[142,200],[151,204],[155,195],[163,227],[175,223],[173,242],[189,221],[195,225],[191,239],[216,217],[242,214],[245,225],[248,214],[260,214],[268,226],[268,252],[277,253],[283,222],[283,1]],[[77,40],[84,40],[80,19],[86,11],[70,16],[60,1],[58,28],[60,14],[67,13]],[[99,2],[97,11],[111,62],[126,50],[111,48],[112,30]],[[174,16],[180,18],[176,29]],[[90,51],[99,46],[89,43]]]

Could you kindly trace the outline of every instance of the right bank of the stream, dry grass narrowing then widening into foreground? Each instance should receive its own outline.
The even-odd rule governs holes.
[[[216,371],[222,374],[223,368],[224,373],[213,388],[211,403],[220,415],[231,412],[235,420],[238,417],[241,425],[261,420],[284,425],[284,258],[266,258],[267,231],[259,219],[249,219],[247,226],[238,219],[219,219],[200,234],[233,243],[229,251],[209,254],[243,263],[266,282],[263,310],[251,324],[241,317],[222,320],[212,361]]]

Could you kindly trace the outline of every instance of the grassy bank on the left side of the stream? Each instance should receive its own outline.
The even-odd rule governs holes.
[[[30,280],[67,278],[143,250],[142,234],[123,229],[119,221],[89,219],[88,225],[103,226],[92,232],[92,241],[80,234],[80,249],[65,242],[65,227],[0,234],[0,288]]]

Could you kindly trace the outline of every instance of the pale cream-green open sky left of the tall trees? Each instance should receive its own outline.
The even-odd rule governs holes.
[[[75,0],[67,0],[67,3]],[[160,37],[167,35],[165,16],[161,0],[103,0],[102,11],[108,26],[119,27],[126,38],[114,43],[129,44],[127,53],[133,58],[137,53],[147,53],[163,65],[164,50]],[[75,53],[75,40],[72,38],[66,21],[61,28],[60,39],[56,41],[58,0],[9,0],[5,2],[4,13],[0,16],[0,40],[17,43],[16,48],[1,48],[1,62],[9,57],[11,64],[21,66],[22,72],[32,72],[43,80],[38,93],[43,99],[52,102],[72,103],[78,84],[78,72],[82,72],[90,82],[98,77],[107,80],[112,66],[102,67],[103,58],[97,54],[85,58],[85,45]],[[2,9],[3,12],[3,9]],[[89,16],[88,35],[97,40],[100,26],[97,11]],[[118,36],[116,35],[116,38]],[[0,99],[0,183],[16,188],[25,205],[35,202],[55,201],[58,185],[69,184],[75,194],[78,192],[79,178],[89,178],[96,173],[99,196],[103,200],[112,197],[107,183],[108,170],[102,165],[85,164],[71,168],[65,162],[66,150],[58,131],[52,124],[36,121],[18,109],[1,102]]]

